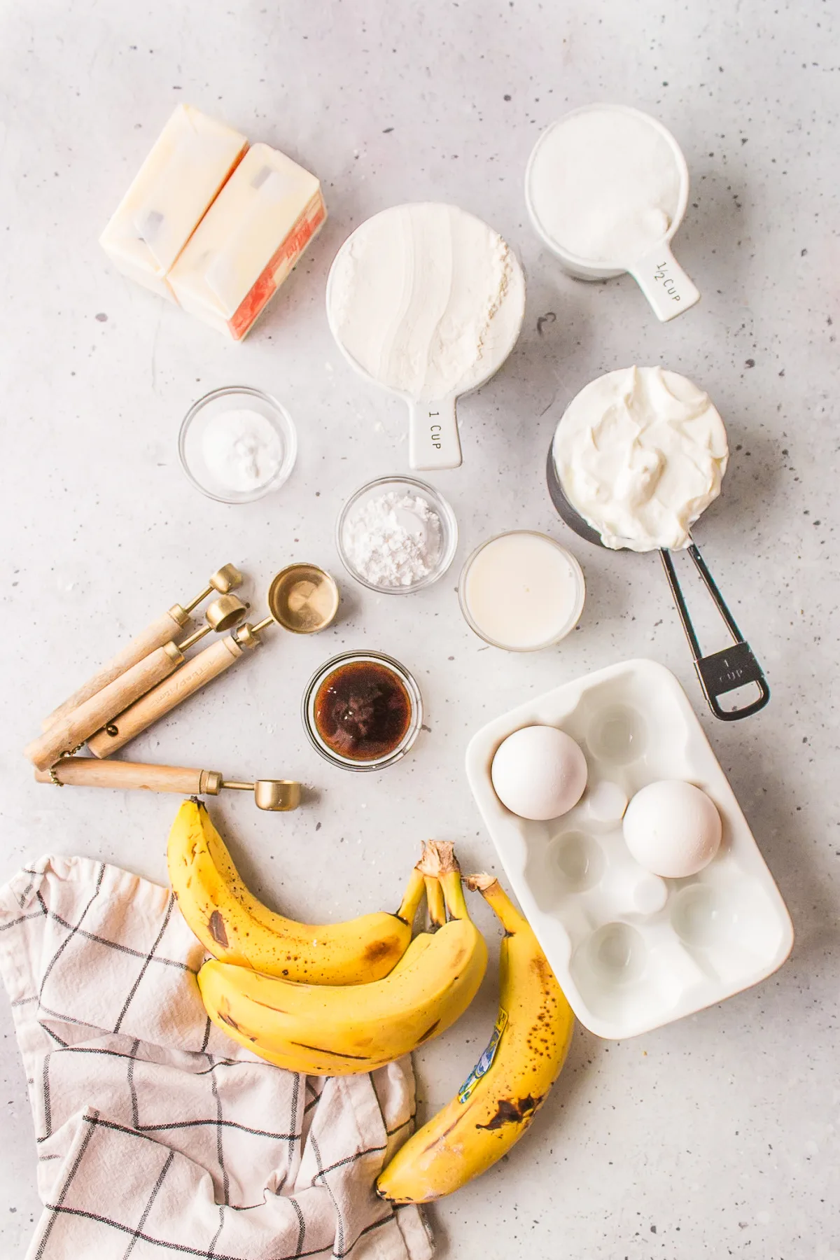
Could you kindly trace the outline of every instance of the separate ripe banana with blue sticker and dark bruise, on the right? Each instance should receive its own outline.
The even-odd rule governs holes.
[[[490,876],[467,885],[505,927],[499,1018],[452,1101],[397,1152],[377,1182],[392,1203],[424,1203],[477,1177],[523,1135],[563,1067],[574,1016],[528,921]]]

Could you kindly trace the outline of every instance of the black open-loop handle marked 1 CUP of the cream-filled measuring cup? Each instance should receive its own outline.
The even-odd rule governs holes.
[[[712,577],[708,564],[700,554],[700,548],[696,543],[691,543],[688,552],[694,561],[694,567],[703,578],[703,583],[712,596],[714,606],[720,614],[727,630],[732,635],[733,644],[730,648],[724,648],[722,651],[714,651],[710,656],[704,656],[701,654],[700,644],[698,643],[698,636],[694,633],[691,617],[689,616],[685,597],[676,576],[676,570],[674,568],[674,561],[671,559],[670,552],[664,549],[660,551],[662,567],[665,568],[665,575],[667,577],[669,586],[671,587],[671,595],[674,596],[674,602],[676,604],[676,611],[680,615],[680,621],[683,622],[683,629],[685,630],[685,638],[689,640],[689,645],[691,648],[694,668],[709,708],[715,717],[720,718],[722,722],[737,722],[742,717],[749,717],[752,713],[758,713],[759,709],[763,709],[764,704],[769,701],[769,687],[767,685],[767,679],[764,678],[761,665],[753,655],[752,648],[746,641],[735,624],[735,619],[727,607],[723,595],[718,590],[718,585]],[[746,687],[747,683],[756,683],[758,685],[757,699],[752,701],[749,704],[744,704],[742,708],[724,709],[720,707],[719,701],[722,696],[725,696],[727,692],[734,692],[738,687]]]

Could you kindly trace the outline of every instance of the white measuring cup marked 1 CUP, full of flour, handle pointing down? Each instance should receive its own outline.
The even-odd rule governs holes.
[[[412,469],[461,464],[457,399],[519,338],[525,277],[509,246],[456,205],[412,202],[361,223],[339,249],[326,314],[345,359],[409,411]]]

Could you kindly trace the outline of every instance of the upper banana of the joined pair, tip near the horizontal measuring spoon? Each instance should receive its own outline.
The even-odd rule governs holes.
[[[180,911],[209,954],[309,984],[388,975],[408,949],[423,897],[423,876],[414,869],[395,915],[383,910],[325,926],[285,919],[248,892],[207,806],[194,799],[178,811],[166,857]]]

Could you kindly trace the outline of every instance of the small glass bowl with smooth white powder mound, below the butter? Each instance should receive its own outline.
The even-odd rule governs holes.
[[[186,476],[209,499],[253,503],[287,480],[297,433],[276,398],[249,386],[227,386],[193,403],[178,454]]]

